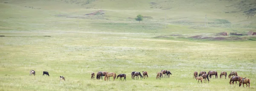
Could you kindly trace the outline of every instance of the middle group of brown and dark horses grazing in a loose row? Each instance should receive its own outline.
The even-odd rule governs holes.
[[[164,77],[170,77],[170,74],[172,74],[170,71],[167,71],[167,70],[161,70],[160,72],[157,72],[157,77],[156,79],[161,79],[161,77],[163,77],[163,74],[165,75]],[[120,80],[121,81],[126,81],[126,74],[119,74],[116,76],[116,73],[113,73],[113,72],[107,72],[107,71],[98,71],[97,74],[96,74],[96,79],[97,80],[100,80],[102,79],[103,80],[103,76],[104,77],[104,80],[106,81],[110,81],[110,77],[113,77],[113,81],[115,79],[118,79],[118,77],[120,77]],[[116,78],[117,77],[117,78]],[[122,77],[124,77],[124,79],[122,80]],[[136,77],[136,78],[135,78]],[[142,78],[144,79],[148,79],[148,72],[147,71],[142,71],[142,74],[140,72],[137,72],[137,71],[132,71],[131,72],[131,79],[133,80],[142,80]],[[93,72],[91,74],[91,80],[94,79],[95,80],[95,73]]]

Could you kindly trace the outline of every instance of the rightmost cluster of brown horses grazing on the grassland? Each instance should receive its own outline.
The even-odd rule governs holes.
[[[201,84],[203,84],[203,80],[205,80],[205,83],[208,81],[209,83],[209,78],[215,78],[217,79],[218,78],[218,72],[217,71],[209,71],[208,73],[206,73],[206,71],[200,71],[200,73],[198,74],[197,71],[194,72],[194,77],[196,80],[198,80],[198,83],[199,83],[199,80],[201,81]],[[225,76],[225,79],[227,78],[227,72],[225,71],[222,71],[221,74],[220,74],[220,78],[224,78]],[[231,77],[232,76],[232,77]],[[230,85],[231,84],[234,84],[234,82],[236,82],[237,84],[237,81],[239,82],[239,86],[241,86],[241,84],[243,84],[243,87],[244,87],[244,84],[246,84],[246,87],[248,86],[247,84],[249,84],[249,88],[250,88],[250,79],[249,78],[246,78],[246,77],[239,77],[237,72],[236,71],[231,71],[230,74],[228,75],[228,78],[230,78]]]

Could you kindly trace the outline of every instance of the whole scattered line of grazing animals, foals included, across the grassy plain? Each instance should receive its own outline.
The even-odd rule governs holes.
[[[34,70],[30,70],[29,71],[29,75],[34,75],[35,76],[35,71]],[[48,75],[49,76],[49,72],[47,71],[43,71],[43,76],[44,74]],[[172,73],[168,70],[161,70],[159,72],[157,72],[157,77],[156,79],[159,79],[161,80],[161,78],[163,78],[163,74],[164,74],[164,77],[170,77],[170,75],[172,75]],[[114,72],[107,72],[107,71],[98,71],[97,74],[96,74],[96,79],[97,80],[100,80],[102,79],[103,80],[103,76],[104,77],[104,80],[106,81],[110,81],[110,77],[113,77],[113,81],[115,79],[118,79],[118,77],[120,77],[120,80],[121,81],[126,81],[126,74],[119,74],[116,76],[116,73]],[[196,80],[198,80],[198,83],[199,83],[199,80],[201,81],[201,84],[203,84],[203,80],[204,80],[204,83],[209,83],[209,78],[215,78],[217,79],[218,78],[218,72],[217,71],[209,71],[208,73],[206,73],[206,71],[200,71],[200,73],[198,74],[197,71],[194,72],[194,76],[193,78],[195,78]],[[227,72],[225,71],[222,71],[221,74],[220,74],[220,78],[224,78],[225,76],[225,79],[227,78]],[[231,77],[233,76],[233,77]],[[117,78],[116,78],[117,77]],[[124,77],[124,79],[122,80],[122,77]],[[146,78],[148,79],[148,72],[147,71],[142,71],[142,74],[140,72],[137,72],[137,71],[132,71],[131,72],[131,79],[135,80],[135,77],[136,77],[136,80],[139,80],[139,77],[140,77],[140,80],[142,80],[142,78]],[[239,86],[241,86],[241,84],[243,84],[243,87],[244,87],[244,84],[246,84],[246,87],[249,86],[250,88],[250,79],[249,78],[246,78],[246,77],[239,77],[237,72],[236,71],[231,71],[230,74],[228,75],[228,78],[230,78],[230,85],[231,84],[234,84],[234,82],[236,82],[237,84],[237,81],[239,82]],[[95,73],[93,72],[91,74],[91,80],[94,79],[95,80]],[[65,81],[65,78],[63,76],[60,76],[60,81],[61,80],[64,80]],[[249,84],[249,85],[247,85]]]

